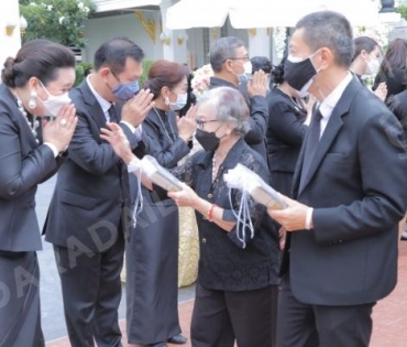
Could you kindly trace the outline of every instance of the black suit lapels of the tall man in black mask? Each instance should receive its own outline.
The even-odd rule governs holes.
[[[323,161],[327,152],[331,148],[334,139],[337,138],[338,133],[340,132],[343,121],[342,117],[349,112],[352,99],[356,91],[363,88],[363,86],[353,78],[351,83],[348,85],[345,90],[343,91],[341,98],[339,99],[337,106],[334,107],[331,117],[329,118],[328,124],[323,131],[322,138],[318,144],[316,155],[310,164],[308,175],[306,177],[306,182],[302,185],[302,189],[298,192],[298,195],[301,194],[301,192],[307,187],[309,182],[312,180],[315,174],[318,171],[318,167],[320,166],[321,162]],[[305,152],[305,145],[301,148],[301,154],[300,154],[300,166],[297,166],[296,175],[295,175],[295,187],[299,187],[299,180],[300,180],[300,171],[302,167],[302,160],[304,160],[304,152]]]

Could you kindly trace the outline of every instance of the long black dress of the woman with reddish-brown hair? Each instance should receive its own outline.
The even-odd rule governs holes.
[[[189,153],[174,112],[153,108],[143,133],[148,153],[167,169]],[[178,209],[142,187],[143,210],[127,242],[127,324],[131,344],[166,341],[180,334],[178,321]]]

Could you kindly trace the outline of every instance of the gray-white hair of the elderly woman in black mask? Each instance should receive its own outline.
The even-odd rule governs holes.
[[[233,133],[238,137],[243,138],[249,132],[249,106],[238,89],[219,87],[208,90],[198,99],[198,110],[201,105],[211,108],[215,119],[233,122]]]

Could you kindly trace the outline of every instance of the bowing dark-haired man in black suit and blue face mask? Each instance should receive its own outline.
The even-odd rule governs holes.
[[[44,231],[54,245],[72,346],[94,346],[94,339],[99,346],[122,346],[118,306],[132,221],[129,175],[100,139],[100,128],[119,122],[132,149],[143,150],[140,124],[153,106],[148,90],[134,96],[143,56],[130,40],[112,39],[96,52],[95,74],[70,93],[79,120]],[[120,109],[118,101],[127,102]]]

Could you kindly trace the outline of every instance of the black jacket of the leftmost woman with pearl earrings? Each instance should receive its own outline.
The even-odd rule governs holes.
[[[37,184],[52,176],[62,159],[38,144],[14,96],[0,85],[0,250],[42,249],[35,215]]]

